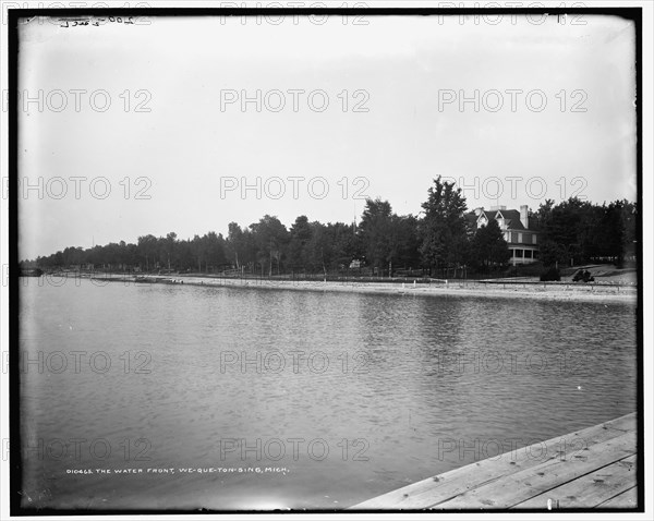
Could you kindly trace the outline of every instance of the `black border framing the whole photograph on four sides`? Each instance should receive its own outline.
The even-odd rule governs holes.
[[[20,35],[19,21],[29,16],[48,16],[48,17],[80,17],[80,16],[262,16],[262,15],[364,15],[364,16],[437,16],[437,15],[521,15],[521,14],[586,14],[586,15],[607,15],[619,16],[630,20],[634,23],[635,28],[635,114],[637,114],[637,196],[635,204],[638,208],[637,218],[637,274],[638,274],[638,302],[637,302],[637,363],[638,363],[638,380],[637,385],[637,401],[638,401],[638,461],[637,461],[637,482],[638,482],[638,506],[635,508],[588,508],[588,509],[557,509],[556,513],[580,513],[580,512],[644,512],[645,507],[645,474],[644,474],[644,361],[643,361],[643,63],[642,63],[642,7],[625,7],[625,8],[80,8],[80,9],[9,9],[9,25],[8,25],[8,66],[9,66],[9,350],[10,350],[10,367],[9,367],[9,386],[10,386],[10,514],[13,517],[27,516],[121,516],[121,514],[190,514],[190,513],[254,513],[254,514],[270,514],[270,513],[330,513],[330,514],[360,514],[360,513],[481,513],[479,509],[464,510],[290,510],[290,511],[259,511],[259,510],[157,510],[157,509],[33,509],[21,506],[21,484],[23,482],[23,467],[21,457],[21,414],[20,414],[20,385],[21,372],[19,367],[19,351],[20,351],[20,286],[19,286],[19,100],[15,93],[19,92],[19,68],[20,63]],[[647,426],[649,428],[649,426]],[[427,476],[425,476],[427,477]],[[542,509],[524,509],[524,510],[507,510],[507,509],[489,509],[484,510],[484,513],[544,513]],[[555,513],[555,512],[549,512]]]

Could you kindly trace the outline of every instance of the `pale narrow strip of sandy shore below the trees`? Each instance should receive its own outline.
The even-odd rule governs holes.
[[[618,284],[584,284],[553,282],[463,282],[460,280],[441,283],[411,282],[356,282],[356,281],[307,281],[270,279],[232,279],[203,276],[148,275],[144,280],[119,274],[104,274],[89,279],[125,284],[159,283],[169,286],[230,287],[242,289],[281,289],[289,291],[331,291],[341,293],[401,294],[428,296],[482,296],[508,299],[538,299],[559,302],[621,302],[635,304],[637,287]]]

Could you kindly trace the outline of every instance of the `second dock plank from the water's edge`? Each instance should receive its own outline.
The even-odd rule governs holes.
[[[588,447],[583,456],[555,458],[431,506],[438,509],[511,508],[531,497],[635,453],[635,433]]]

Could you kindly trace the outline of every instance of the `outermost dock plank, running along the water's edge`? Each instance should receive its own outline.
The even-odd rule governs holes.
[[[594,444],[615,438],[621,434],[633,432],[637,425],[635,420],[635,413],[627,414],[601,425],[594,425],[566,436],[552,438],[544,441],[542,445],[546,448],[547,457],[556,459],[559,457],[558,451],[564,446],[568,448],[568,451],[570,451],[570,448],[574,451],[574,448],[582,446],[590,447]],[[427,508],[428,506],[462,494],[465,490],[484,483],[500,480],[507,475],[535,467],[545,461],[545,458],[529,457],[529,455],[537,455],[543,450],[541,446],[532,447],[534,447],[532,451],[522,448],[518,451],[505,452],[499,458],[486,459],[459,469],[453,469],[444,474],[428,477],[368,499],[350,507],[350,509],[416,510]]]

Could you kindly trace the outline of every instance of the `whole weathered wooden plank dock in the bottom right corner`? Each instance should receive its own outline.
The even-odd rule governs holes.
[[[632,413],[428,477],[350,510],[633,509],[635,463]]]

